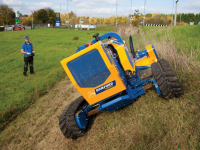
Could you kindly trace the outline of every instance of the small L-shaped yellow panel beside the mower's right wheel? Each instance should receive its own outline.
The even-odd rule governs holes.
[[[153,51],[152,46],[151,45],[146,46],[146,50],[148,52],[148,56],[136,60],[135,61],[136,66],[149,66],[152,63],[157,62],[157,58]]]

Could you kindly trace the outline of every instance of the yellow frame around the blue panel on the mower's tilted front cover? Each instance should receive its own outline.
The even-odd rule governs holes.
[[[104,83],[96,86],[96,87],[92,87],[92,88],[82,88],[82,87],[79,87],[79,85],[76,83],[76,80],[74,79],[73,75],[71,74],[70,70],[68,69],[67,67],[67,63],[80,57],[81,55],[87,53],[87,52],[90,52],[94,49],[97,49],[104,61],[104,63],[106,64],[108,70],[110,71],[110,75],[109,77],[105,80]],[[111,60],[113,62],[113,60]],[[108,56],[106,55],[105,51],[103,50],[103,47],[101,45],[101,42],[97,42],[87,48],[85,48],[84,50],[81,50],[80,52],[78,53],[75,53],[74,55],[64,59],[61,61],[61,64],[65,70],[65,72],[67,73],[69,79],[71,80],[72,84],[75,86],[75,88],[79,91],[79,93],[85,98],[85,100],[90,104],[95,104],[99,101],[102,101],[103,99],[106,99],[110,96],[113,96],[121,91],[124,91],[126,89],[120,75],[119,75],[119,72],[118,70],[116,69],[114,63],[110,63],[109,59],[108,59]],[[96,94],[95,93],[95,89],[99,88],[99,87],[102,87],[104,86],[105,84],[108,84],[112,81],[115,81],[116,82],[116,85],[115,86],[109,86],[109,87],[106,87],[105,91],[99,93],[99,94]]]

